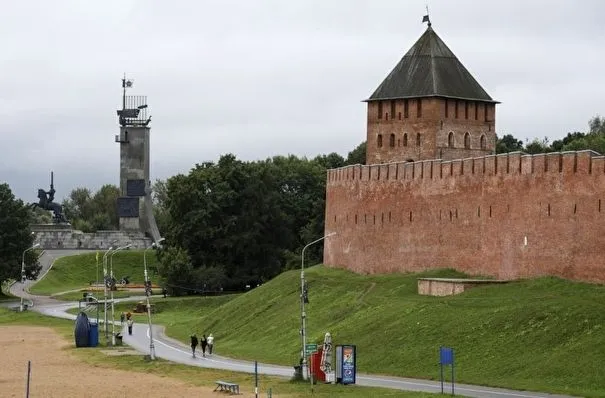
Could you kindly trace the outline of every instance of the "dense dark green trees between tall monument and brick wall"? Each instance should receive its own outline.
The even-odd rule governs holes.
[[[228,154],[156,183],[168,245],[160,275],[169,291],[241,290],[300,267],[304,245],[324,233],[326,170],[361,159],[365,144],[347,159],[331,153],[244,162]],[[321,253],[321,244],[310,247],[309,264]]]

